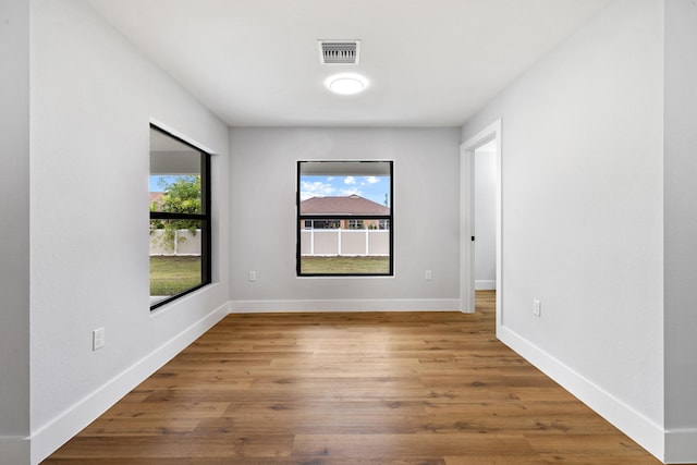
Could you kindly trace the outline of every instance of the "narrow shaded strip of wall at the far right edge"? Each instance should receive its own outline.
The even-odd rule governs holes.
[[[697,462],[697,5],[665,2],[667,456]]]

